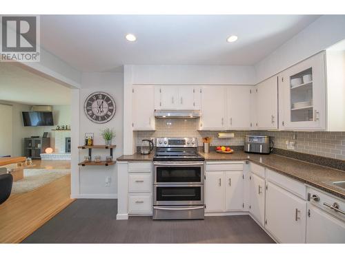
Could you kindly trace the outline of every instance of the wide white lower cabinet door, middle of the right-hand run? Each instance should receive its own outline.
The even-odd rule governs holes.
[[[306,201],[267,182],[265,228],[281,243],[304,243]]]

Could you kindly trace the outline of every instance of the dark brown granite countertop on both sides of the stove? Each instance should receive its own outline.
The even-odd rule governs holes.
[[[221,154],[211,151],[210,153],[199,152],[204,156],[206,161],[236,161],[250,160],[256,164],[265,166],[278,173],[295,178],[300,182],[304,182],[318,189],[332,193],[338,197],[345,199],[345,189],[333,186],[331,182],[344,181],[345,171],[328,168],[327,166],[319,166],[317,164],[287,158],[282,155],[270,154],[261,155],[253,153],[245,153],[244,151],[235,151],[233,154]],[[152,161],[154,153],[149,155],[141,155],[135,153],[133,155],[122,155],[117,158],[118,161]]]

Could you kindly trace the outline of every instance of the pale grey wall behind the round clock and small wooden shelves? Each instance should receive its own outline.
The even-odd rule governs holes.
[[[77,166],[75,161],[76,144],[82,145],[85,133],[95,133],[94,144],[104,144],[99,135],[101,129],[110,127],[115,129],[116,137],[113,144],[117,147],[113,152],[116,159],[123,153],[123,105],[124,105],[124,80],[122,73],[84,73],[81,78],[81,89],[79,94],[73,93],[73,98],[79,95],[78,111],[73,111],[72,127],[75,123],[76,115],[79,114],[79,142],[72,142],[72,197],[89,198],[115,198],[117,197],[117,173],[116,166]],[[110,94],[116,103],[116,113],[114,118],[105,124],[97,124],[90,121],[83,110],[83,103],[88,95],[93,92],[106,92]],[[72,98],[72,99],[73,99]],[[74,108],[75,105],[72,106]],[[76,134],[72,132],[72,138]],[[72,139],[73,140],[73,139]],[[83,160],[88,155],[86,150],[77,153],[77,160]],[[101,155],[105,159],[109,155],[108,150],[92,150],[92,159],[95,155]],[[79,156],[79,157],[78,157]],[[106,186],[106,178],[110,177],[110,186]]]

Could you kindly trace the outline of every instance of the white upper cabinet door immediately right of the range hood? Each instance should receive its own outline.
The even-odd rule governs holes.
[[[226,88],[224,86],[201,87],[200,130],[226,129]]]

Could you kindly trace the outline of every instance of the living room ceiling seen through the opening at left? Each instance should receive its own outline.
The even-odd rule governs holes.
[[[28,105],[70,105],[70,89],[12,63],[0,63],[0,100]]]

